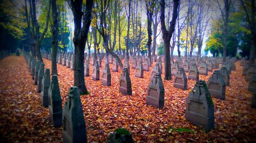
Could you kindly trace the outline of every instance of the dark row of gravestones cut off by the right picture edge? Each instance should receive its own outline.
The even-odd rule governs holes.
[[[256,108],[256,59],[254,59],[254,64],[249,66],[246,59],[242,58],[240,66],[243,66],[242,75],[248,81],[248,91],[252,92],[251,107]]]

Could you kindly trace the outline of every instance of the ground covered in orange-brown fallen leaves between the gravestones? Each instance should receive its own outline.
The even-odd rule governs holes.
[[[51,61],[44,62],[51,69]],[[105,142],[118,127],[131,131],[135,142],[255,142],[256,109],[251,108],[252,93],[247,91],[240,62],[236,66],[230,75],[230,87],[226,87],[226,100],[212,98],[215,130],[209,133],[185,120],[186,98],[195,81],[188,80],[188,90],[182,91],[173,87],[173,80],[163,80],[165,105],[158,109],[145,104],[151,72],[144,72],[140,79],[131,68],[133,95],[124,96],[118,89],[121,71],[111,71],[112,86],[104,87],[100,68],[99,81],[86,77],[91,94],[81,96],[88,142]],[[73,71],[59,64],[57,68],[63,105],[73,85]],[[90,75],[92,68],[90,65]],[[200,75],[200,79],[207,81],[211,74]],[[24,57],[12,55],[0,61],[0,75],[0,141],[62,142],[62,128],[52,126],[48,108],[41,106]]]

